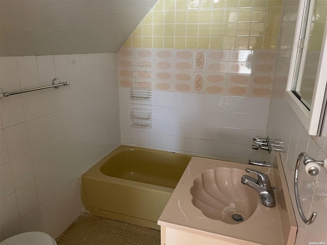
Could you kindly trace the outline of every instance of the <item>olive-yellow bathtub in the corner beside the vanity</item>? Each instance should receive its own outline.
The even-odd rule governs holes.
[[[191,157],[120,145],[81,176],[84,207],[160,230],[157,220]]]

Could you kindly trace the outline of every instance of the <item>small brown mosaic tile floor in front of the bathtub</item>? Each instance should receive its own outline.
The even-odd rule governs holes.
[[[83,214],[56,241],[58,245],[160,245],[160,231]]]

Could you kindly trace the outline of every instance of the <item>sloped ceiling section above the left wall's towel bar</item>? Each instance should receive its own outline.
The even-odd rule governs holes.
[[[0,56],[118,52],[157,0],[0,0]]]

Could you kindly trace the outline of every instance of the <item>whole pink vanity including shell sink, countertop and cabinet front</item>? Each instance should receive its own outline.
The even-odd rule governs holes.
[[[296,220],[278,153],[275,155],[274,166],[278,167],[249,166],[192,157],[158,219],[161,245],[294,245]],[[241,183],[244,175],[253,176],[246,172],[247,167],[267,175],[271,186],[275,187],[274,207],[264,206],[259,193]],[[205,186],[205,191],[211,190],[211,194],[199,192],[201,186]],[[219,191],[216,188],[218,186],[220,192],[214,194]],[[242,197],[244,193],[247,193],[246,197]],[[193,194],[201,198],[201,202],[211,200],[210,205],[204,206],[211,208],[202,212],[195,206],[200,202],[196,201]],[[209,198],[214,195],[217,197],[215,200]],[[233,215],[229,216],[231,213],[244,219],[235,219]]]

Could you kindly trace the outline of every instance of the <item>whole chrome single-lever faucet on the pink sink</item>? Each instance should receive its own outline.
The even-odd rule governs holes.
[[[269,177],[261,171],[252,168],[247,167],[245,168],[245,171],[247,171],[247,173],[258,175],[258,179],[248,175],[243,175],[241,178],[242,184],[248,185],[258,191],[263,205],[274,207],[276,205],[273,194],[273,189],[275,187],[271,187]]]

